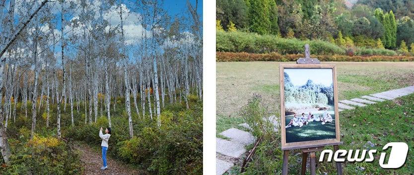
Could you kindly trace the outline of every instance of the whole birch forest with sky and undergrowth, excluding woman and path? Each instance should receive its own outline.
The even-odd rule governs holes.
[[[201,174],[203,2],[170,3],[0,0],[0,174],[99,172],[100,127],[131,171]]]

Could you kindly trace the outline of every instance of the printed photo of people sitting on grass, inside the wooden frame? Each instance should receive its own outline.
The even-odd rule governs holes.
[[[286,143],[335,139],[332,69],[285,68]]]

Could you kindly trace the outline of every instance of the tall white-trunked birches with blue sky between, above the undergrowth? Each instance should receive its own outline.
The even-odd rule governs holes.
[[[170,16],[161,0],[137,0],[129,8],[125,3],[10,0],[5,6],[0,1],[0,150],[5,163],[10,156],[5,131],[16,120],[17,103],[32,119],[31,137],[43,107],[47,127],[56,122],[60,138],[62,111],[70,110],[71,125],[106,116],[111,127],[111,108],[120,108],[118,98],[123,97],[132,138],[132,110],[160,127],[166,104],[183,102],[189,108],[190,94],[203,98],[197,2],[187,1],[181,16]],[[74,112],[84,112],[84,121],[74,121]],[[50,121],[51,115],[56,121]]]

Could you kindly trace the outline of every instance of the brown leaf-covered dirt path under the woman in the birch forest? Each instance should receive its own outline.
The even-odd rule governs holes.
[[[119,161],[107,156],[108,169],[101,170],[102,154],[84,143],[77,143],[81,152],[80,160],[85,166],[84,175],[145,175],[144,172],[130,168]],[[109,150],[108,150],[109,151]]]

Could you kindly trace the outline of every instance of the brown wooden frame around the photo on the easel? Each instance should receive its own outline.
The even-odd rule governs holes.
[[[329,137],[325,139],[316,139],[316,140],[300,140],[292,139],[291,132],[286,131],[286,123],[289,121],[286,121],[286,108],[285,108],[285,85],[284,85],[284,73],[286,71],[290,70],[298,70],[298,71],[313,71],[313,70],[332,70],[332,87],[333,87],[333,103],[331,101],[331,107],[334,111],[330,111],[334,115],[334,122],[329,123],[332,128],[332,124],[335,123],[335,133],[332,134],[332,132],[329,132]],[[293,71],[294,72],[294,71]],[[279,73],[280,73],[280,129],[281,129],[281,149],[282,150],[291,150],[291,149],[304,149],[304,148],[314,148],[314,147],[322,147],[322,146],[328,146],[328,145],[339,145],[341,144],[341,138],[340,138],[340,124],[339,124],[339,109],[338,109],[338,84],[337,84],[337,73],[336,73],[336,66],[334,64],[280,64],[279,65]],[[300,73],[295,73],[295,75],[300,75]],[[306,77],[306,75],[303,75]],[[303,79],[303,77],[301,77]],[[290,79],[289,79],[290,80]],[[310,79],[309,79],[310,80]],[[291,85],[288,85],[291,86]],[[290,103],[289,103],[290,104]],[[333,106],[332,106],[333,104]],[[320,108],[320,107],[318,107]],[[318,109],[319,110],[319,109]],[[326,108],[324,108],[326,111]],[[326,113],[324,112],[323,115]],[[291,116],[290,116],[291,117]],[[312,122],[313,123],[313,122]],[[316,123],[313,123],[315,125]],[[307,125],[306,125],[307,126]],[[309,126],[311,127],[311,126]],[[302,126],[300,126],[302,128]],[[305,127],[303,127],[305,128]],[[288,129],[290,130],[290,128]],[[295,130],[301,131],[299,129],[299,126],[295,128]],[[332,129],[331,129],[332,130]],[[286,135],[287,133],[287,135]],[[300,134],[300,133],[299,133]],[[303,133],[302,133],[303,134]],[[286,138],[288,137],[288,138]]]

